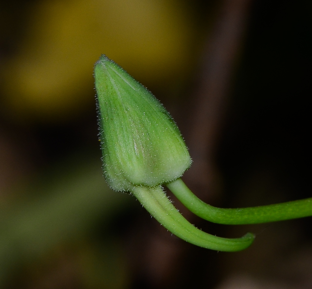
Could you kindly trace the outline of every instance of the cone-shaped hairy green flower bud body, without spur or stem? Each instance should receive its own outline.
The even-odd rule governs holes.
[[[115,62],[95,63],[104,175],[111,188],[157,186],[191,165],[181,133],[163,105]]]

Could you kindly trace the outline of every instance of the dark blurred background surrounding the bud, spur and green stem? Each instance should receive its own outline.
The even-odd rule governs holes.
[[[1,288],[311,288],[311,218],[215,225],[237,253],[190,245],[102,176],[93,65],[106,54],[164,104],[205,202],[311,197],[311,2],[0,3]],[[170,196],[170,192],[168,192]]]

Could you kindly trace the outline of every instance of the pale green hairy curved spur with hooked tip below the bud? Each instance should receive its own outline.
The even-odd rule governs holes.
[[[240,251],[246,249],[254,240],[254,235],[228,239],[205,233],[189,223],[173,206],[161,186],[133,187],[131,193],[145,209],[168,231],[194,245],[218,251]]]

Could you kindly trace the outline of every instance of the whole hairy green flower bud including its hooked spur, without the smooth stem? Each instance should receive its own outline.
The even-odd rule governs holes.
[[[221,251],[247,248],[252,234],[236,239],[207,234],[190,224],[163,192],[163,183],[173,192],[181,189],[178,178],[191,165],[191,158],[160,102],[105,55],[95,63],[94,77],[108,184],[133,193],[160,224],[187,242]],[[182,194],[188,195],[183,186]]]

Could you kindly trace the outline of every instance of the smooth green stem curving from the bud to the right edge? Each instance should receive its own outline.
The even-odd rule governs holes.
[[[223,209],[201,201],[180,178],[166,186],[195,215],[218,224],[260,224],[312,216],[312,198],[259,207]]]

